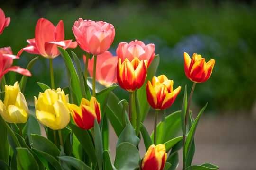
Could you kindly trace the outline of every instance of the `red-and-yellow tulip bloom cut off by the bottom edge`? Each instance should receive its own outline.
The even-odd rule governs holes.
[[[165,144],[152,144],[142,160],[141,170],[163,170],[166,158]]]

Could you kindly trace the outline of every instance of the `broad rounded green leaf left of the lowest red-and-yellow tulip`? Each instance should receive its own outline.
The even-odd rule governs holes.
[[[117,146],[114,163],[117,169],[134,170],[140,167],[139,161],[139,152],[133,144],[123,142]]]

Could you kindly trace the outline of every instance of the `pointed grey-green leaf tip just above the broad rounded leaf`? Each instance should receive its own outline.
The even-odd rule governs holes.
[[[139,141],[140,140],[136,136],[135,130],[129,121],[118,138],[117,146],[123,142],[128,142],[130,144],[133,144],[134,146],[137,146],[139,144]]]

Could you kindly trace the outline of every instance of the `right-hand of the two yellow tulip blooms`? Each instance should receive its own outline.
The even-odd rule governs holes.
[[[53,130],[63,129],[70,121],[67,103],[68,95],[60,88],[40,92],[38,99],[35,97],[37,119]]]

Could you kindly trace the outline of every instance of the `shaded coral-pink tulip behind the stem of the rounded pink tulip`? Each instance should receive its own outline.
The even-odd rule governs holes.
[[[84,62],[86,62],[85,55],[83,56]],[[92,77],[94,56],[88,60],[88,71]],[[106,51],[97,57],[96,64],[96,80],[109,87],[113,83],[117,83],[117,62],[118,57],[113,56],[110,51]]]

